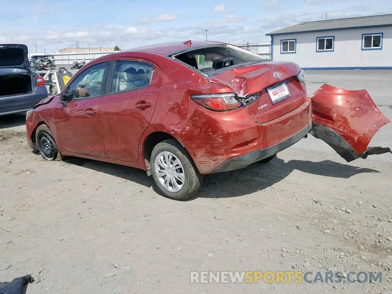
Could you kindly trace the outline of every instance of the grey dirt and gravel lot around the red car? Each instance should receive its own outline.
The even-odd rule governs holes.
[[[391,71],[306,74],[309,93],[324,82],[366,88],[392,119]],[[27,293],[392,289],[391,154],[346,163],[309,136],[266,165],[208,176],[198,198],[180,202],[143,171],[43,160],[24,116],[0,127],[0,280],[31,273]],[[388,124],[370,145],[392,147],[391,134]],[[191,270],[381,271],[382,283],[191,284]]]

